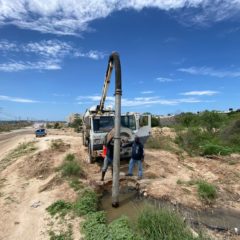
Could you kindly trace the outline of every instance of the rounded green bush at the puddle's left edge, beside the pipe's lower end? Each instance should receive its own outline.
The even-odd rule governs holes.
[[[79,194],[77,201],[74,204],[74,212],[78,216],[83,216],[88,213],[96,212],[98,209],[98,197],[91,189],[85,189]]]

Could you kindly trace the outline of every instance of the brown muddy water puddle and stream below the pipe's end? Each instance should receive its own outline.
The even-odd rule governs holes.
[[[187,222],[192,225],[205,225],[212,229],[217,230],[231,230],[235,228],[240,229],[240,211],[233,211],[229,209],[211,209],[206,211],[198,211],[190,208],[186,208],[180,205],[173,205],[170,202],[146,199],[140,197],[136,190],[131,188],[125,188],[120,190],[120,207],[112,208],[111,194],[105,193],[102,198],[102,210],[106,211],[107,219],[109,222],[125,215],[131,220],[136,220],[138,213],[146,206],[150,204],[156,209],[168,208],[181,213]]]

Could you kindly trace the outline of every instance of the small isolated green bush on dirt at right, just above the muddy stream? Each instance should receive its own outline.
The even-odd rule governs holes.
[[[197,185],[200,199],[210,203],[217,198],[217,190],[214,185],[206,181],[199,181]]]

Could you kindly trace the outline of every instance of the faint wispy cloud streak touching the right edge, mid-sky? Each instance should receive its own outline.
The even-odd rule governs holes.
[[[179,68],[178,71],[185,72],[193,75],[204,75],[211,77],[240,77],[240,69],[237,70],[217,70],[211,67],[189,67],[189,68]]]

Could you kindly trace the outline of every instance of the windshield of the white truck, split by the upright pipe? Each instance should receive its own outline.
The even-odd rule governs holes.
[[[135,116],[121,116],[121,126],[136,130]],[[114,128],[113,116],[100,116],[93,119],[94,132],[109,132],[112,128]]]

